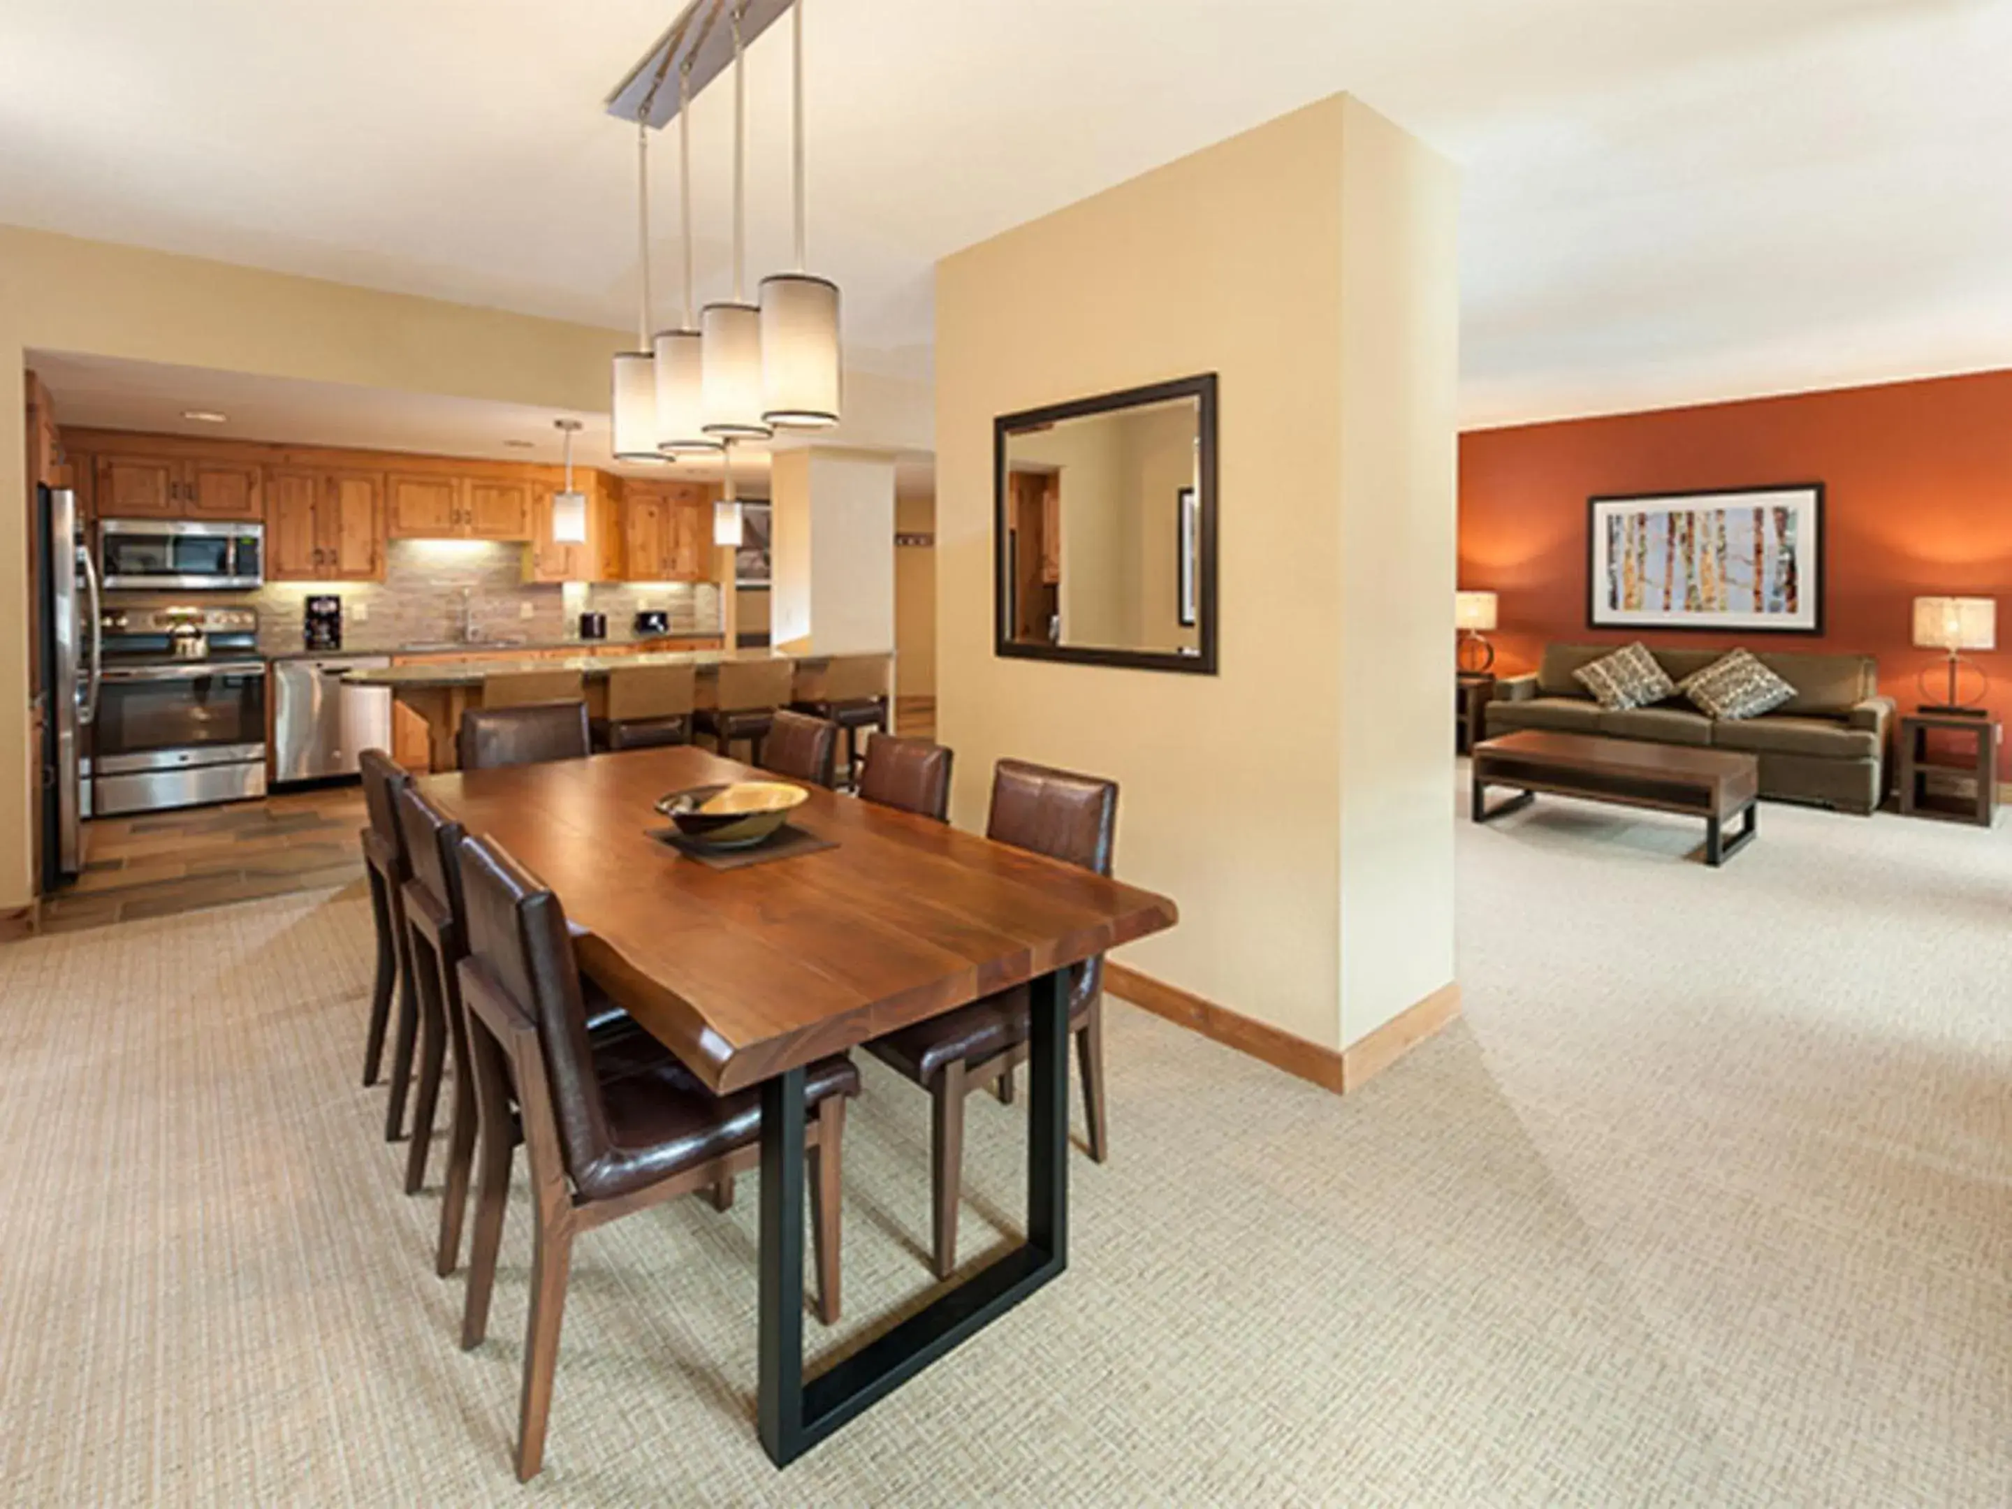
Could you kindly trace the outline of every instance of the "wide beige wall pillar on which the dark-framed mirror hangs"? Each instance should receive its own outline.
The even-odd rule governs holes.
[[[1354,175],[1360,191],[1350,193]],[[1392,219],[1412,243],[1433,241],[1416,272],[1376,249]],[[1453,296],[1451,243],[1451,169],[1336,97],[938,266],[938,726],[958,750],[956,821],[984,821],[1002,754],[1115,777],[1119,873],[1167,891],[1183,915],[1125,960],[1332,1048],[1350,1040],[1342,917],[1356,897],[1344,889],[1344,791],[1366,811],[1374,793],[1352,785],[1376,779],[1344,761],[1344,718],[1366,728],[1368,696],[1414,674],[1451,706],[1453,425],[1408,404],[1453,380],[1453,352],[1443,342],[1392,348],[1366,320],[1358,330],[1358,292],[1390,280],[1384,294],[1406,308],[1441,308]],[[1350,284],[1352,256],[1366,262]],[[1414,292],[1410,278],[1445,288]],[[1420,376],[1358,418],[1344,404],[1348,378],[1380,362]],[[992,418],[1197,372],[1221,380],[1221,674],[994,658]],[[1358,447],[1437,447],[1445,475],[1372,463],[1352,455]],[[1396,668],[1350,708],[1344,634],[1364,612],[1342,604],[1344,561],[1360,549],[1368,565],[1402,533],[1392,525],[1356,541],[1370,509],[1350,487],[1384,479],[1396,485],[1380,497],[1386,511],[1447,521],[1445,561],[1420,545],[1390,571],[1390,592],[1431,600],[1437,660],[1427,664],[1424,638],[1410,644],[1414,626],[1398,624],[1386,646]],[[1420,525],[1420,541],[1439,527]],[[1420,877],[1400,879],[1402,926],[1360,946],[1410,952],[1416,968],[1352,962],[1350,1024],[1451,980],[1453,893],[1439,867],[1451,744],[1445,718],[1406,718],[1390,734],[1386,761],[1435,781],[1441,803],[1437,813],[1406,805],[1382,835],[1398,865],[1420,855]],[[1429,976],[1410,998],[1390,998]]]

